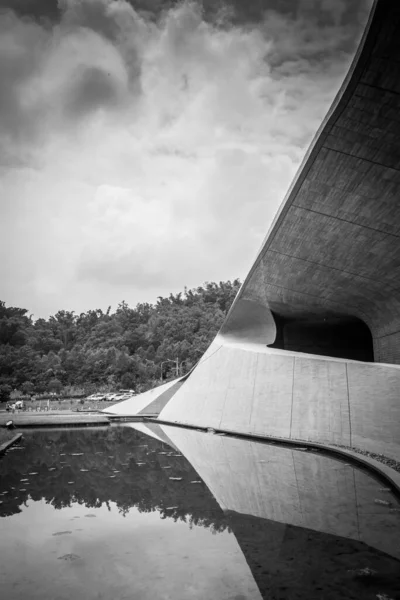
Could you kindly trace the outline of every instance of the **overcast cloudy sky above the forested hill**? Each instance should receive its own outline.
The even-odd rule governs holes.
[[[0,299],[37,318],[243,279],[370,6],[0,0]]]

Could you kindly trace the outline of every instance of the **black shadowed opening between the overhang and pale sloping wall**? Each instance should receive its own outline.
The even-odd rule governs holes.
[[[320,317],[293,319],[273,314],[277,335],[270,348],[320,356],[374,361],[371,332],[360,319]]]

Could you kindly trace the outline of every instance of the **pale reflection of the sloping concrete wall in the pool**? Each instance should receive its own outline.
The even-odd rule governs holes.
[[[359,540],[400,558],[400,513],[384,504],[398,502],[363,471],[309,452],[162,429],[224,511]]]

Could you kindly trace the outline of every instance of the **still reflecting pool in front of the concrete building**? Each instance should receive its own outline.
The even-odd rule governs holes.
[[[0,459],[6,600],[400,598],[400,505],[320,453],[156,424]]]

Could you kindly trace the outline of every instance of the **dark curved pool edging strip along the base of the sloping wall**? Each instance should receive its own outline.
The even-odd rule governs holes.
[[[190,425],[181,423],[176,423],[173,421],[164,421],[161,419],[151,419],[150,417],[146,417],[145,421],[158,423],[160,425],[171,425],[173,427],[180,427],[182,429],[195,429],[196,431],[207,432],[207,427],[201,427],[198,425]],[[214,429],[214,428],[213,428]],[[233,431],[230,429],[214,429],[216,434],[223,434],[230,437],[241,438],[246,440],[254,440],[258,442],[265,443],[275,443],[281,444],[283,446],[290,447],[299,447],[299,448],[309,448],[310,450],[323,451],[331,456],[336,456],[339,458],[343,458],[345,460],[349,460],[357,466],[364,467],[377,477],[379,477],[382,481],[391,486],[392,491],[400,498],[400,473],[392,467],[388,467],[384,465],[379,460],[375,460],[369,456],[365,456],[364,454],[360,454],[355,450],[348,450],[347,448],[341,448],[339,446],[333,446],[331,444],[321,444],[319,442],[310,442],[307,440],[300,439],[289,439],[289,438],[281,438],[275,436],[264,436],[257,434],[249,434],[246,432]]]

